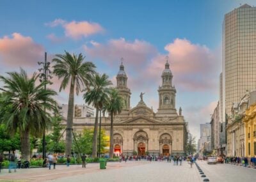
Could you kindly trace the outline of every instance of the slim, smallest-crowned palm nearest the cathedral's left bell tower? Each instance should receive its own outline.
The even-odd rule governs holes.
[[[113,158],[113,151],[114,151],[114,129],[113,129],[113,117],[122,111],[123,108],[123,98],[118,95],[118,90],[115,88],[111,88],[109,91],[109,98],[108,102],[104,106],[103,110],[107,111],[111,117],[111,124],[110,124],[110,147],[109,147],[109,158]]]

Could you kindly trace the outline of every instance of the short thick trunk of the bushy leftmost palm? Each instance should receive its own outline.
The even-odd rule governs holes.
[[[21,155],[24,160],[30,160],[30,139],[29,139],[29,128],[25,131],[20,132],[20,148]]]

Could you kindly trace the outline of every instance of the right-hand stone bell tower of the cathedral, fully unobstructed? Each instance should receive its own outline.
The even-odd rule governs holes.
[[[158,89],[159,108],[157,110],[157,115],[177,115],[177,110],[175,109],[176,89],[172,84],[173,75],[170,70],[170,64],[168,63],[168,56],[166,56],[165,68],[161,77],[162,86],[159,86]]]

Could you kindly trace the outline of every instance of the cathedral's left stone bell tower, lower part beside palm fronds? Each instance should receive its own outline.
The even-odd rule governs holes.
[[[127,87],[127,75],[124,71],[124,65],[123,65],[123,58],[121,58],[121,65],[119,72],[116,75],[116,89],[118,89],[118,93],[120,96],[122,96],[124,100],[124,105],[122,109],[122,114],[129,113],[130,110],[130,98],[131,98],[131,91]]]

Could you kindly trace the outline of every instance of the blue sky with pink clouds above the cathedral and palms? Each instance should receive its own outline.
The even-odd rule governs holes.
[[[145,92],[143,100],[157,112],[168,56],[176,108],[182,107],[189,131],[199,139],[199,124],[210,122],[219,98],[223,17],[244,3],[256,5],[253,0],[0,0],[0,75],[20,68],[32,74],[44,52],[51,61],[67,50],[82,53],[116,86],[124,57],[131,106]],[[52,82],[58,91],[60,81],[54,77]],[[67,103],[68,89],[56,99]],[[84,101],[77,96],[75,103]]]

